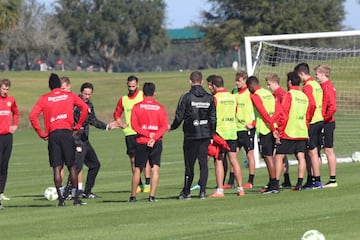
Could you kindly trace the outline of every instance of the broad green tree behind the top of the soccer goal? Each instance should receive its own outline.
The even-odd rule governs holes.
[[[226,51],[245,36],[338,31],[343,28],[344,0],[209,0],[203,12],[205,43]]]

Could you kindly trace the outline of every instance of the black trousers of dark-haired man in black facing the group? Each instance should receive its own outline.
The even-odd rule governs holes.
[[[100,170],[100,161],[96,155],[94,148],[89,141],[82,142],[76,141],[76,173],[79,174],[83,169],[84,164],[88,167],[88,173],[86,177],[86,185],[84,193],[91,193],[91,189],[95,185],[96,176]]]

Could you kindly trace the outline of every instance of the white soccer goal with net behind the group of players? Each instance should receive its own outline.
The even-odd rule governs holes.
[[[286,74],[301,62],[309,64],[312,75],[318,64],[329,65],[337,98],[337,160],[351,161],[360,152],[360,31],[249,36],[245,54],[249,76],[257,76],[263,86],[268,74],[277,73],[286,88]]]

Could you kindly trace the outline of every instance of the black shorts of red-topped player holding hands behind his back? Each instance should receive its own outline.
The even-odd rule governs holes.
[[[148,147],[147,144],[136,144],[135,167],[145,168],[149,160],[150,166],[158,165],[160,167],[160,158],[162,153],[162,141],[156,141],[154,147]]]

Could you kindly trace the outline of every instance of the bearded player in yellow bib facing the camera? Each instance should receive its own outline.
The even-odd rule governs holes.
[[[127,155],[130,158],[131,172],[135,171],[135,138],[136,132],[131,127],[131,110],[133,106],[144,99],[143,92],[139,90],[139,79],[135,76],[129,76],[127,79],[128,94],[119,98],[115,111],[114,119],[119,122],[119,126],[123,129],[127,148]],[[150,165],[146,164],[144,171],[145,185],[141,178],[139,182],[138,192],[150,191]]]

